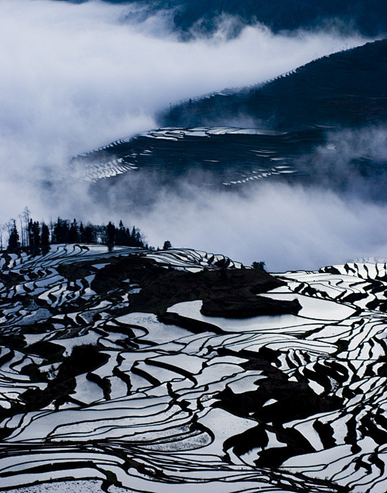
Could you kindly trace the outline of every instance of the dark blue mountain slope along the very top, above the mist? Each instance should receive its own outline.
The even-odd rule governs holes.
[[[73,0],[73,3],[84,3],[84,1],[86,0]],[[324,23],[334,23],[341,30],[355,30],[368,36],[378,36],[387,32],[387,4],[382,0],[104,1],[111,4],[131,3],[149,6],[149,13],[156,10],[170,10],[173,25],[185,33],[195,25],[201,32],[210,34],[216,29],[216,17],[221,13],[235,15],[240,18],[242,25],[264,23],[275,32],[295,30],[300,27],[314,28]],[[229,34],[238,34],[238,23],[233,26]]]

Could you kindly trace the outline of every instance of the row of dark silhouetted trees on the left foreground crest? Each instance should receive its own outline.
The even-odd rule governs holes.
[[[108,225],[94,225],[76,219],[70,222],[67,219],[58,218],[56,222],[50,221],[47,225],[33,220],[30,211],[25,208],[20,219],[20,228],[16,220],[12,219],[6,224],[8,232],[7,251],[13,252],[18,249],[39,249],[48,247],[50,244],[59,243],[94,243],[107,245],[137,246],[148,248],[145,237],[139,229],[133,226],[131,229],[123,225],[122,220],[118,227],[109,221]],[[166,242],[167,243],[167,242]],[[1,249],[3,249],[1,237]]]

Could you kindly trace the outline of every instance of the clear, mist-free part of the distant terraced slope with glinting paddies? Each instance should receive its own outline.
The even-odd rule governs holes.
[[[73,175],[90,181],[135,170],[145,182],[151,177],[155,185],[167,185],[193,173],[195,181],[206,185],[240,185],[278,177],[289,180],[293,173],[300,179],[305,173],[297,166],[300,156],[323,142],[318,129],[161,128],[77,156],[71,165]]]

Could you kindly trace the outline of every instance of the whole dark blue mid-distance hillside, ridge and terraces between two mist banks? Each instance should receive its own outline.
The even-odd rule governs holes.
[[[158,129],[73,158],[73,176],[93,181],[90,190],[106,207],[128,196],[136,197],[133,206],[152,203],[149,184],[176,190],[184,182],[240,187],[262,180],[383,201],[384,137],[375,143],[370,132],[384,135],[386,77],[387,40],[326,56],[264,85],[172,106],[159,115]]]

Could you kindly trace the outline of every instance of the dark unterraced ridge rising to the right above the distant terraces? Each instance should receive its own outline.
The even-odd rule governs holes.
[[[233,125],[275,130],[361,126],[387,119],[387,39],[340,51],[264,85],[213,94],[166,110],[162,126]]]

